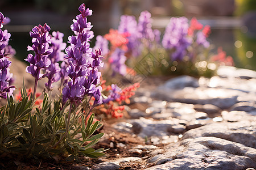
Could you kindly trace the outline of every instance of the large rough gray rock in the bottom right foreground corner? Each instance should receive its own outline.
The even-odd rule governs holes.
[[[246,169],[256,166],[256,150],[215,137],[185,139],[148,159],[150,169]]]

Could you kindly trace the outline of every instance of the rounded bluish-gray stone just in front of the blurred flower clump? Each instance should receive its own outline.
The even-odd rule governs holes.
[[[164,83],[162,86],[160,86],[160,89],[165,88],[171,88],[171,89],[177,89],[177,88],[184,88],[184,87],[199,87],[198,79],[193,78],[192,76],[188,75],[182,75],[178,76],[176,78],[172,78],[168,80],[166,83]]]

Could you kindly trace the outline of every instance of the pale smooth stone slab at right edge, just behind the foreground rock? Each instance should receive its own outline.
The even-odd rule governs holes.
[[[182,139],[197,137],[217,137],[256,148],[256,122],[215,122],[186,131]]]

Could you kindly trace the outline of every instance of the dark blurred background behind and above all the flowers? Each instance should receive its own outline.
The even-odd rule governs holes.
[[[94,25],[95,35],[117,29],[121,15],[138,18],[144,10],[151,12],[153,27],[162,32],[171,16],[188,19],[196,16],[200,23],[212,28],[209,37],[215,45],[212,53],[222,46],[234,58],[236,66],[256,70],[255,0],[1,0],[1,12],[11,19],[4,28],[11,33],[10,44],[17,51],[16,57],[21,60],[27,57],[27,45],[31,45],[28,32],[34,25],[48,23],[52,31],[63,32],[67,41],[68,35],[72,35],[72,19],[81,3],[93,10],[89,21]]]

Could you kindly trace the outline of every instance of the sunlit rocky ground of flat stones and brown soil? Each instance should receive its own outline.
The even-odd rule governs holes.
[[[80,164],[15,162],[19,169],[256,169],[256,72],[221,67],[217,76],[146,79],[128,119],[106,121]],[[29,167],[29,168],[28,168]]]

